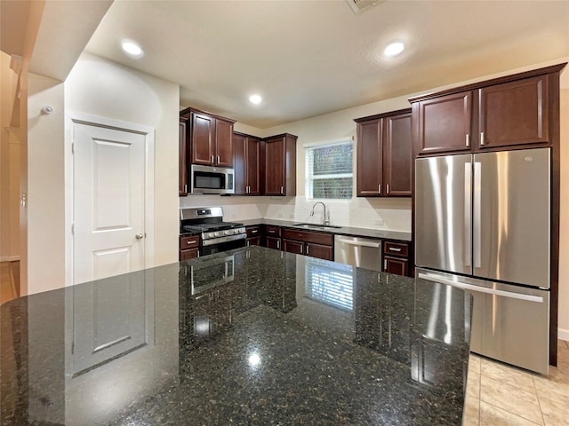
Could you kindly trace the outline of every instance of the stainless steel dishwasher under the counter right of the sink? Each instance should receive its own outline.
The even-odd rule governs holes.
[[[334,262],[381,271],[381,240],[336,235]]]

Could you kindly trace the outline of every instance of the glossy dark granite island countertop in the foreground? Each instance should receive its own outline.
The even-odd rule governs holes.
[[[2,305],[3,425],[459,425],[471,300],[270,248]]]

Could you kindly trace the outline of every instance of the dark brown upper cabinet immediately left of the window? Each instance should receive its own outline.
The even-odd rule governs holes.
[[[297,138],[284,133],[263,139],[265,195],[296,195]]]

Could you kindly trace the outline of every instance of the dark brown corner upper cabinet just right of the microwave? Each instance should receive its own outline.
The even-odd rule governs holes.
[[[260,194],[260,138],[235,132],[233,134],[235,155],[235,193],[239,195]]]

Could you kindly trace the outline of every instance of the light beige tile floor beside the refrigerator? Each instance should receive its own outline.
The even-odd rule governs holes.
[[[463,426],[569,426],[569,342],[557,367],[532,374],[471,354]]]

